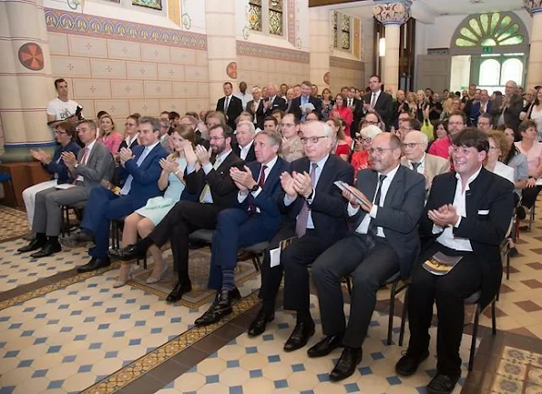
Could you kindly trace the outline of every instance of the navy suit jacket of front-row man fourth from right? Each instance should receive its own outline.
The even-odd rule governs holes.
[[[260,178],[261,164],[253,161],[247,164],[251,168],[252,178],[258,181]],[[261,188],[260,194],[253,198],[251,194],[240,203],[240,208],[248,210],[250,203],[260,208],[261,217],[266,227],[278,228],[281,224],[281,210],[279,209],[279,198],[281,197],[281,174],[284,171],[290,171],[290,163],[281,157],[277,157],[275,165],[272,167],[269,177]]]

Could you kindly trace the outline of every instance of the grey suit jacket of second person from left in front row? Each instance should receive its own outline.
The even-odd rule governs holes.
[[[81,163],[85,149],[81,149],[77,154],[77,163]],[[77,168],[71,171],[71,177],[77,179],[77,176],[83,176],[83,186],[88,191],[97,187],[102,180],[111,180],[115,172],[115,161],[107,146],[95,142],[90,155],[87,157],[87,165],[79,164]]]

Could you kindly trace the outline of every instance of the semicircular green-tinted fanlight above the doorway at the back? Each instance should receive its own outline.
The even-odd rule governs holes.
[[[510,15],[480,14],[471,18],[455,38],[457,46],[499,46],[523,44],[524,35]]]

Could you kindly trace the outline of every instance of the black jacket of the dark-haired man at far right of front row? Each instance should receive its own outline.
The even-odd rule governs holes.
[[[436,176],[429,199],[420,220],[420,232],[424,248],[435,242],[440,234],[433,234],[433,222],[427,217],[430,209],[452,204],[455,187],[459,180],[455,173]],[[514,212],[514,185],[482,167],[478,177],[470,183],[466,192],[466,217],[454,227],[456,237],[468,238],[473,252],[482,267],[482,308],[496,296],[503,276],[500,244],[506,236]]]

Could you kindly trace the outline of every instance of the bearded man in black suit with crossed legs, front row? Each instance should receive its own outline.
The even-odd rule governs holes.
[[[123,260],[143,258],[151,245],[161,248],[169,240],[173,252],[173,263],[179,281],[169,293],[168,301],[178,301],[192,289],[189,278],[189,234],[199,228],[214,229],[217,216],[222,209],[233,207],[237,201],[238,188],[230,177],[230,168],[239,167],[242,161],[231,151],[230,126],[216,125],[209,129],[210,147],[196,146],[196,151],[185,152],[185,190],[199,196],[199,201],[179,201],[171,208],[152,232],[135,245],[115,251]],[[214,160],[211,161],[211,151]],[[199,162],[200,168],[196,171]]]

